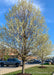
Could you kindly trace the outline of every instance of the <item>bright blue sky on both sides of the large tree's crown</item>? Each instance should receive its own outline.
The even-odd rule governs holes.
[[[18,0],[0,0],[0,26],[6,23],[5,16],[9,10]],[[33,0],[34,5],[40,8],[42,15],[48,27],[48,33],[52,44],[54,44],[54,0]],[[54,52],[52,52],[54,55]]]

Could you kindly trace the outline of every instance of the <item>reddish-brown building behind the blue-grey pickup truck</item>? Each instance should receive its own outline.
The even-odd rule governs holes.
[[[10,58],[18,57],[18,51],[13,48],[1,47],[0,48],[0,59],[4,58],[4,56],[6,55],[8,55]]]

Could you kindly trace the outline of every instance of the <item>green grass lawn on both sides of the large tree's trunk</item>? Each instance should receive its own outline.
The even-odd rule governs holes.
[[[48,65],[47,68],[39,68],[38,66],[26,69],[26,73],[30,73],[32,75],[52,75],[54,72],[54,65]],[[21,71],[12,72],[5,75],[15,75],[17,73],[21,73]]]

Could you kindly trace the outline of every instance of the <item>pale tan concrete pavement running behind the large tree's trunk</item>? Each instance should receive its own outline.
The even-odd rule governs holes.
[[[34,67],[34,66],[39,66],[39,64],[32,64],[32,65],[26,64],[25,69],[30,68],[30,67]],[[22,67],[0,67],[0,75],[14,72],[14,71],[18,71],[21,69],[22,69]]]

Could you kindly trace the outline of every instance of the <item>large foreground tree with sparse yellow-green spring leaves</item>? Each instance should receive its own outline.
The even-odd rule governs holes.
[[[28,53],[34,50],[36,37],[46,31],[46,25],[39,9],[29,1],[19,0],[5,15],[6,25],[0,29],[1,41],[18,50],[23,61],[22,73]]]

